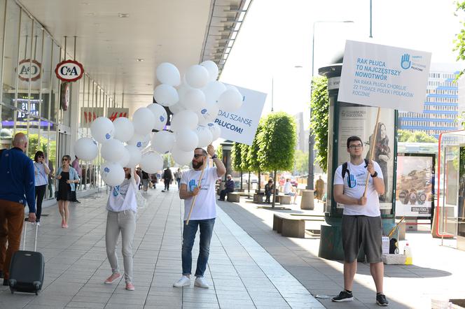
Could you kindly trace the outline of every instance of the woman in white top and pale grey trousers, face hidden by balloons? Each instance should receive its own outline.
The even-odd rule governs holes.
[[[139,189],[140,178],[135,170],[132,175],[130,168],[125,167],[124,170],[125,180],[121,185],[111,188],[106,203],[108,215],[106,216],[105,244],[112,274],[105,280],[105,283],[110,285],[121,278],[118,257],[116,256],[116,243],[121,232],[121,252],[123,253],[126,289],[134,291],[134,285],[132,285],[132,239],[134,231],[136,231],[136,192]]]

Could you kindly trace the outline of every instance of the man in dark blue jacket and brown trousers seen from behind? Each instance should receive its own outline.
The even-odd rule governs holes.
[[[25,155],[27,143],[27,136],[18,133],[13,148],[0,150],[0,278],[6,286],[11,257],[20,248],[26,202],[28,220],[36,222],[34,164]]]

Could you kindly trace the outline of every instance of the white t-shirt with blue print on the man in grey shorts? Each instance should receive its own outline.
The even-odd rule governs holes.
[[[377,172],[377,177],[382,179],[382,171],[380,165],[373,161],[373,166]],[[342,179],[342,165],[336,168],[334,173],[334,185],[344,185],[344,194],[354,199],[360,199],[365,192],[366,174],[368,173],[365,167],[365,161],[360,165],[347,163],[347,172]],[[368,177],[368,192],[366,194],[366,204],[360,205],[344,205],[344,215],[366,215],[368,217],[379,217],[380,199],[373,185],[373,178]]]

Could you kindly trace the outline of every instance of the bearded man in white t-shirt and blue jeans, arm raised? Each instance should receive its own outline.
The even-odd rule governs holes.
[[[199,182],[202,174],[202,166],[207,162],[207,155],[213,159],[216,167],[205,168],[202,180]],[[215,183],[218,178],[226,173],[223,162],[215,155],[215,149],[212,145],[207,147],[207,151],[202,148],[194,150],[192,160],[193,169],[183,173],[181,178],[181,187],[179,189],[179,198],[184,200],[184,224],[183,224],[183,245],[181,251],[183,275],[181,279],[174,282],[174,287],[185,287],[190,285],[190,273],[192,271],[192,247],[194,245],[195,233],[197,227],[200,229],[200,252],[197,258],[197,269],[195,270],[196,287],[208,288],[209,285],[204,280],[204,272],[207,268],[207,261],[210,251],[210,240],[213,234],[213,227],[216,218],[216,192]],[[190,215],[189,224],[186,225],[188,214],[194,196],[195,205],[193,205],[192,214]]]

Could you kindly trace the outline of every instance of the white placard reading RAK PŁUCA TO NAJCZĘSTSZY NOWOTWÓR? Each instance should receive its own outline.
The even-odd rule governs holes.
[[[346,41],[338,101],[423,113],[431,52]]]

